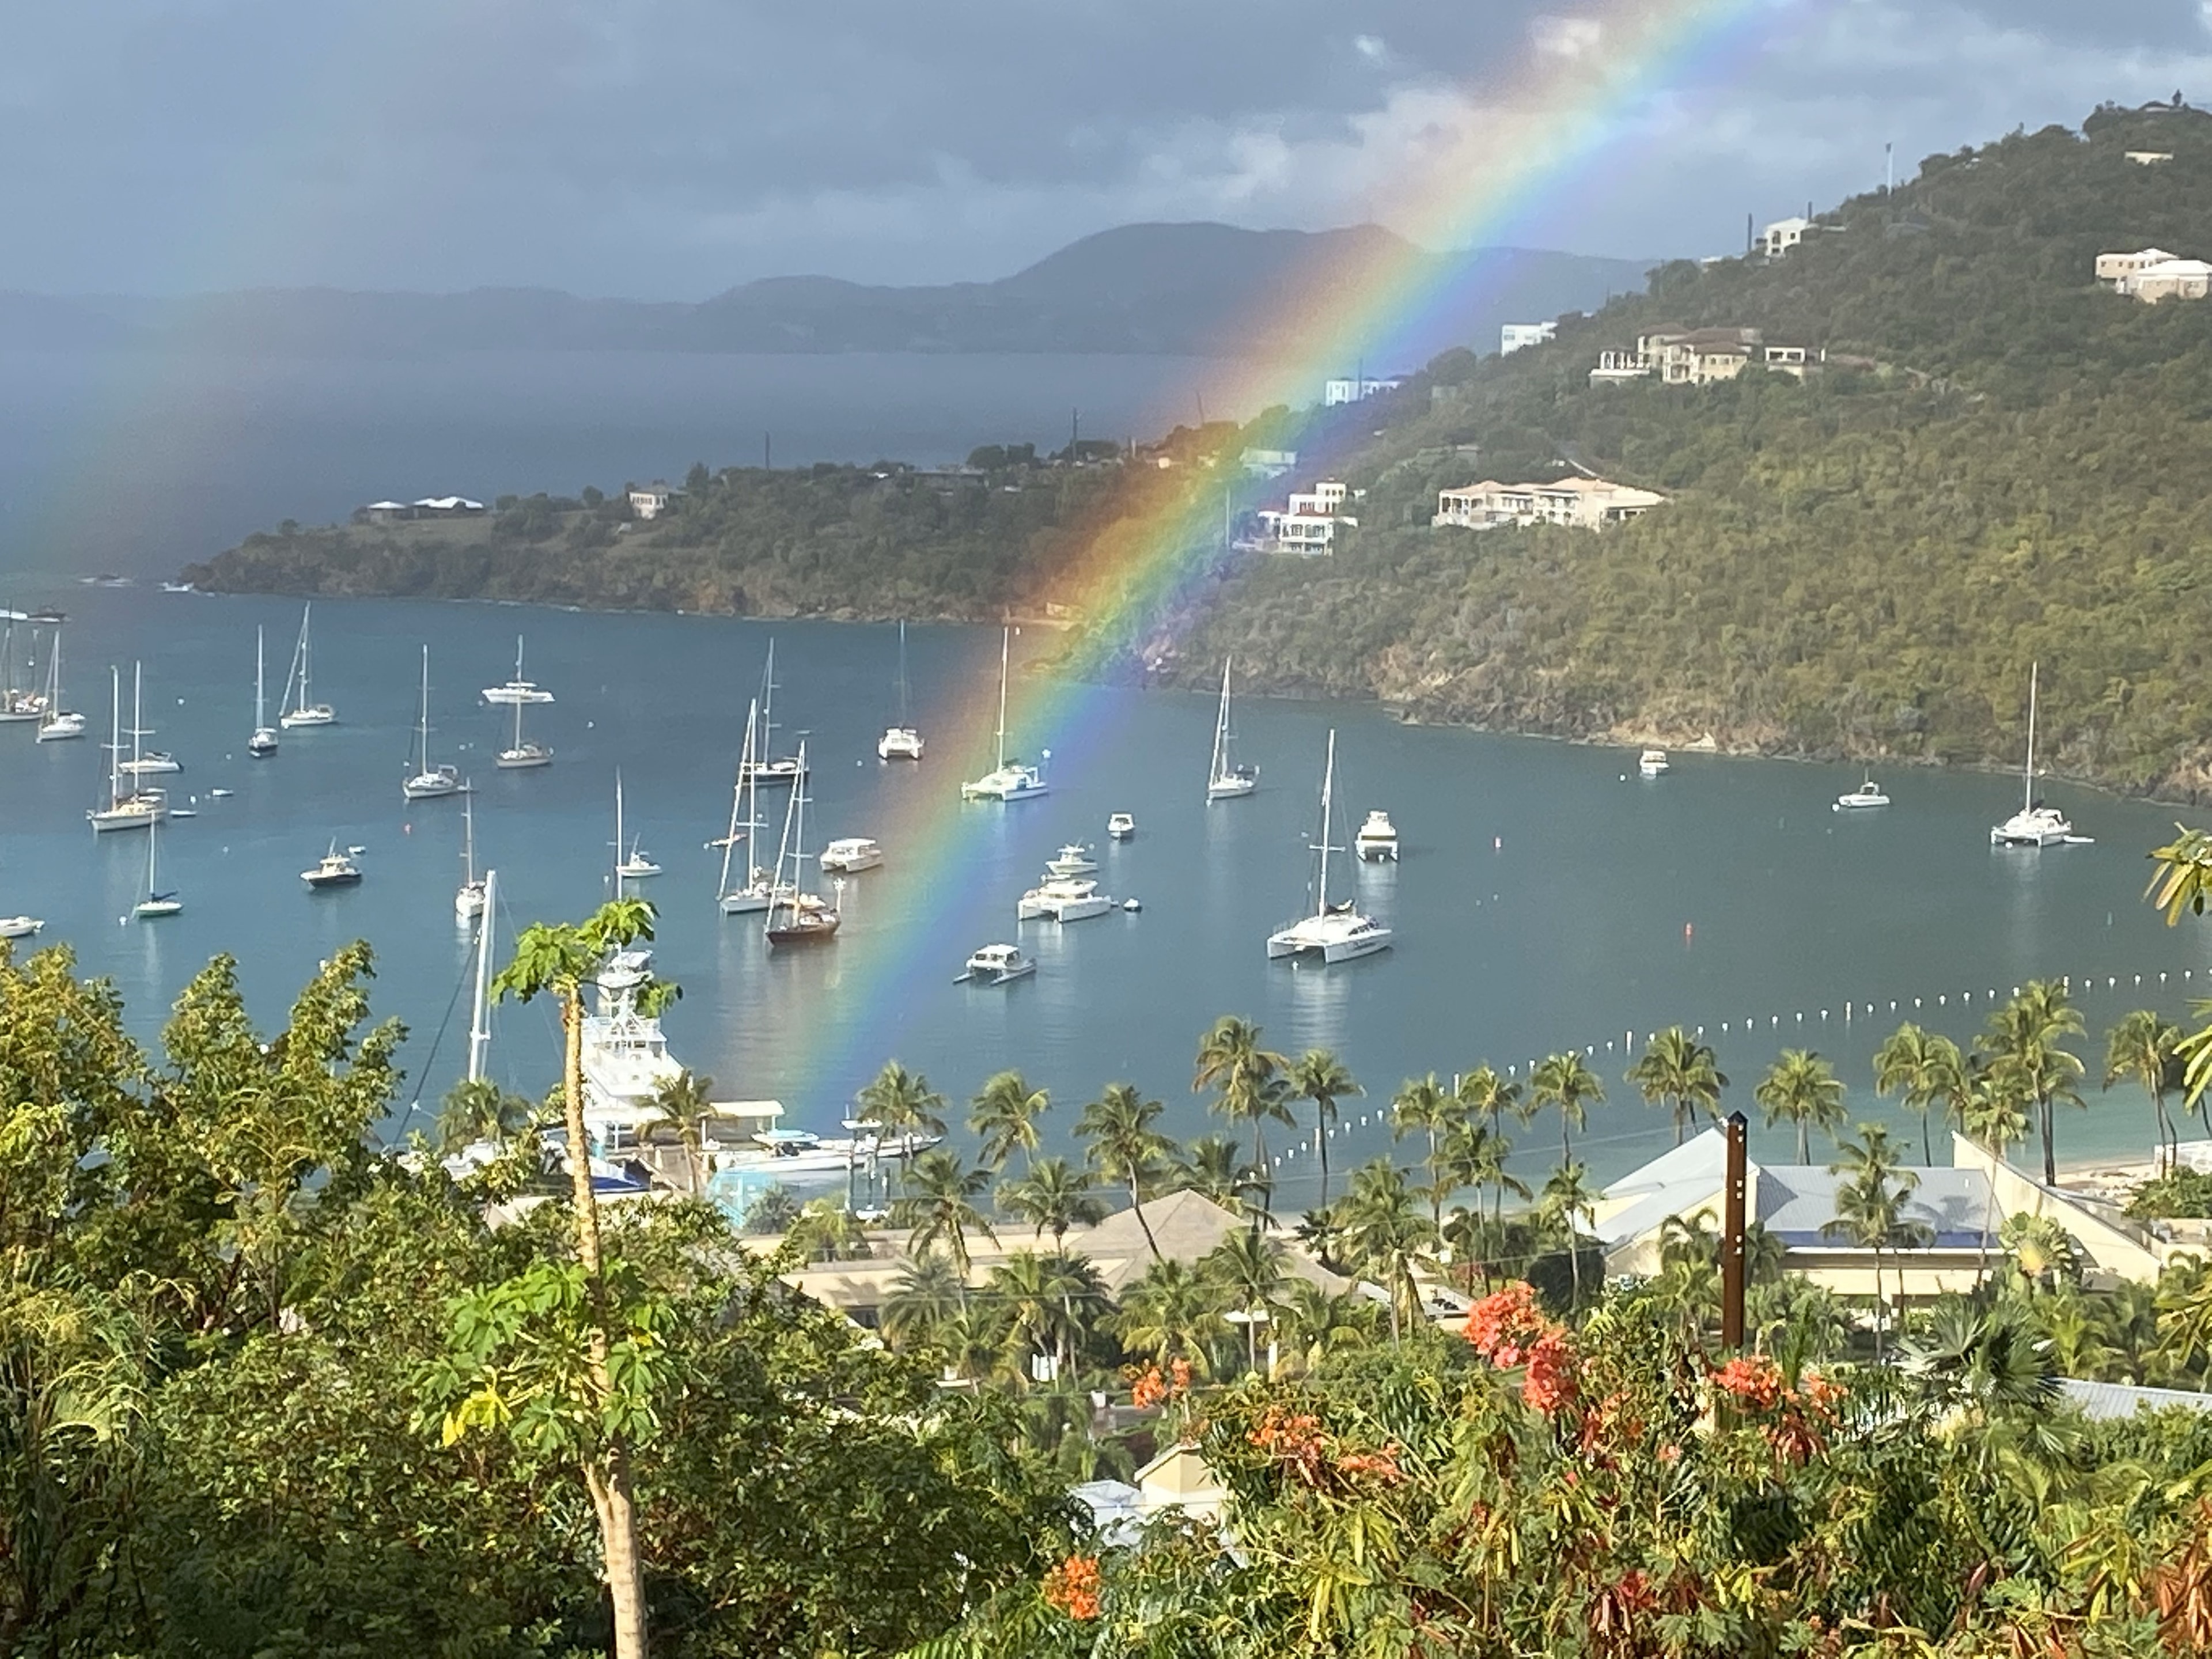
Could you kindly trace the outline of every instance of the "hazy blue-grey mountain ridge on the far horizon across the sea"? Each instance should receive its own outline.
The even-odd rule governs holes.
[[[319,356],[540,352],[1110,352],[1276,354],[1298,294],[1356,292],[1405,259],[1447,294],[1407,367],[1449,345],[1493,349],[1498,325],[1597,310],[1655,261],[1528,248],[1420,254],[1378,226],[1102,230],[987,283],[889,288],[768,276],[697,305],[580,299],[544,288],[462,294],[281,288],[181,301],[0,294],[0,345],[192,345]],[[1396,365],[1369,365],[1396,367]]]

